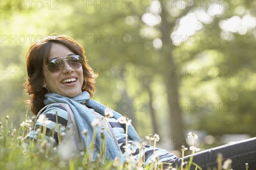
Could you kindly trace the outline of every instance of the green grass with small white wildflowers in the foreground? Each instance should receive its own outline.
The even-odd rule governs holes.
[[[151,164],[143,164],[143,156],[139,160],[132,160],[131,157],[121,164],[121,160],[115,159],[113,161],[105,160],[105,147],[103,145],[102,151],[96,156],[96,161],[92,162],[92,154],[88,152],[81,152],[75,155],[63,156],[62,151],[65,150],[64,146],[61,144],[67,142],[61,139],[60,146],[53,145],[47,140],[38,141],[37,143],[31,141],[25,144],[23,141],[24,137],[32,129],[33,121],[26,116],[26,121],[23,122],[18,130],[13,127],[11,123],[9,125],[9,117],[0,122],[0,170],[131,170],[131,169],[141,169],[141,170],[163,170],[164,164],[158,162],[156,157]],[[41,133],[42,132],[42,133]],[[45,136],[45,130],[42,129],[39,135]],[[86,133],[85,133],[86,134]],[[194,135],[194,134],[193,134]],[[59,136],[61,138],[61,136]],[[148,137],[148,136],[146,136]],[[153,140],[154,145],[159,140],[158,135],[154,137],[148,137],[149,141]],[[66,144],[68,147],[68,144]],[[94,144],[91,145],[94,147]],[[194,146],[193,146],[194,147]],[[182,146],[182,157],[184,156],[184,151],[187,150],[186,147]],[[140,149],[143,152],[143,147]],[[143,155],[143,154],[142,154]],[[219,168],[222,169],[221,157],[218,164]],[[122,158],[121,158],[122,159]],[[194,165],[196,170],[202,170],[197,164],[192,161],[192,157],[189,162],[183,162],[181,167],[172,167],[167,164],[166,168],[169,166],[170,170],[187,170]],[[217,169],[217,168],[216,168]],[[226,169],[226,168],[225,168]],[[228,166],[228,170],[231,169],[231,165]],[[247,169],[244,168],[244,169]]]

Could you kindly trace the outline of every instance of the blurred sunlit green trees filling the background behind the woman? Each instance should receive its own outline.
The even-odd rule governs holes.
[[[18,129],[32,116],[30,44],[66,34],[99,74],[93,99],[142,138],[159,134],[158,147],[180,150],[189,131],[202,148],[256,136],[255,0],[0,3],[1,122],[8,115]]]

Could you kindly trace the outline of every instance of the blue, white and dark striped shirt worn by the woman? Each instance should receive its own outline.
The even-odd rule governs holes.
[[[86,106],[84,105],[85,109]],[[56,116],[56,111],[58,111],[58,116]],[[98,119],[102,118],[104,119],[104,122],[106,121],[106,118],[99,113],[95,112],[93,109],[90,109],[92,114],[96,115]],[[45,116],[48,120],[46,122],[42,122],[40,120],[41,116]],[[42,127],[43,130],[46,128],[46,139],[52,139],[53,144],[58,144],[58,135],[61,135],[61,132],[64,132],[66,130],[67,126],[67,118],[68,113],[67,110],[62,107],[61,105],[52,105],[47,107],[47,109],[39,116],[39,119],[37,119],[35,123],[35,130],[34,128],[30,130],[29,134],[27,135],[27,138],[29,139],[38,139],[38,128]],[[56,123],[58,119],[58,124]],[[175,159],[176,156],[172,153],[168,153],[166,150],[149,146],[146,144],[140,144],[132,141],[129,139],[128,136],[128,148],[125,148],[126,142],[125,142],[125,128],[122,124],[120,124],[116,119],[109,118],[108,120],[109,125],[111,126],[111,133],[113,133],[113,136],[117,140],[118,147],[120,148],[123,156],[123,160],[126,160],[127,156],[131,156],[132,159],[141,159],[145,160],[145,164],[148,164],[154,159],[155,156],[158,157],[159,162],[166,162],[171,159]],[[105,123],[103,122],[103,125]],[[61,125],[60,125],[61,124]],[[57,127],[59,128],[59,131],[57,131]],[[59,134],[58,134],[59,133]],[[109,132],[108,132],[109,133]],[[127,147],[126,146],[126,147]],[[144,149],[142,149],[144,147]],[[153,154],[154,153],[154,154]],[[155,156],[154,156],[155,155]]]

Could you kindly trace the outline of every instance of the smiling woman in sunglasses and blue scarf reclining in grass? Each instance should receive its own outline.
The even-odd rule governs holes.
[[[35,123],[35,129],[39,127],[44,129],[45,127],[46,139],[53,140],[55,144],[60,143],[61,147],[59,136],[62,131],[69,130],[71,135],[65,133],[64,138],[71,139],[69,141],[73,152],[85,150],[95,142],[93,156],[93,160],[95,160],[96,153],[101,148],[99,141],[103,130],[107,140],[106,159],[121,158],[122,155],[125,160],[129,154],[138,159],[145,152],[145,164],[151,162],[154,153],[159,156],[160,162],[180,165],[179,158],[163,149],[145,145],[144,151],[139,153],[140,137],[132,125],[128,125],[128,129],[126,129],[126,126],[120,124],[118,119],[126,124],[129,124],[129,121],[126,122],[127,119],[124,119],[119,113],[90,99],[95,91],[96,74],[87,63],[84,49],[72,38],[67,36],[48,37],[33,44],[27,54],[26,64],[29,76],[25,83],[26,91],[31,96],[32,113],[37,115],[37,118],[39,116]],[[111,113],[113,113],[113,117],[109,117]],[[106,115],[108,116],[106,117]],[[97,120],[103,123],[97,123]],[[62,125],[63,130],[59,124]],[[96,138],[92,139],[94,130],[96,130]],[[39,133],[38,130],[31,130],[27,138],[36,140]],[[53,139],[51,139],[52,134]],[[129,149],[134,150],[133,153],[128,153],[127,143],[133,144],[129,146]],[[251,149],[254,151],[255,158],[255,139],[247,143],[254,148]],[[225,158],[235,156],[226,154],[232,149],[231,147],[225,148],[227,148],[223,153]],[[214,151],[221,152],[221,150],[223,149]],[[193,160],[197,164],[202,167],[207,167],[209,164],[211,167],[216,166],[216,159],[209,158],[209,160],[202,161],[202,158],[209,157],[208,152],[202,153],[202,155],[194,156]],[[247,151],[238,153],[247,154]],[[249,157],[253,158],[251,154]],[[189,156],[185,159],[188,160]]]

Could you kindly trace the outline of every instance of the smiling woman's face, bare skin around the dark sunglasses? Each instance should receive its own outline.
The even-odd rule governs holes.
[[[77,55],[70,51],[66,46],[58,43],[52,43],[48,61],[54,58],[67,57],[70,55]],[[44,63],[43,68],[46,66]],[[81,88],[83,85],[83,69],[72,68],[67,60],[64,60],[64,68],[58,72],[51,73],[47,68],[44,68],[44,82],[42,87],[47,86],[52,93],[60,94],[66,97],[75,97],[82,93]],[[71,82],[65,80],[70,79]],[[75,81],[72,81],[76,79]],[[69,81],[70,81],[69,80]]]

